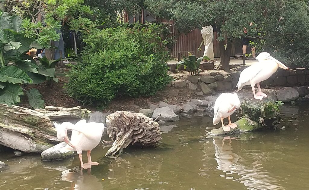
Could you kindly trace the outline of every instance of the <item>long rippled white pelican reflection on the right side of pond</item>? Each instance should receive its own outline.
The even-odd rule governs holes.
[[[230,137],[225,137],[223,140],[219,138],[213,138],[213,143],[215,147],[215,156],[218,163],[218,169],[224,172],[229,171],[229,174],[235,173],[240,176],[240,178],[234,181],[239,181],[243,183],[248,189],[262,190],[283,190],[285,188],[281,186],[274,185],[278,182],[277,179],[269,176],[269,173],[262,171],[260,160],[252,163],[253,167],[247,167],[239,163],[241,159],[239,155],[233,152],[231,146]]]

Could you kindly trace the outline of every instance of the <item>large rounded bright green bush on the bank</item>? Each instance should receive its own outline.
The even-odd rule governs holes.
[[[171,80],[161,27],[117,27],[85,35],[81,61],[68,74],[70,96],[106,106],[116,96],[150,96]],[[164,51],[162,51],[164,49]]]

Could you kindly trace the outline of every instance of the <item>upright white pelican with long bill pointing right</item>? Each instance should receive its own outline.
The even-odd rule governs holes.
[[[268,97],[265,93],[262,93],[260,82],[265,81],[273,75],[278,67],[283,69],[289,69],[283,63],[273,58],[269,53],[262,52],[257,57],[258,63],[252,64],[248,68],[245,68],[239,76],[239,81],[236,85],[238,90],[241,90],[245,85],[251,85],[253,96],[255,99],[262,100],[264,97]],[[255,94],[255,84],[259,89],[258,93]]]

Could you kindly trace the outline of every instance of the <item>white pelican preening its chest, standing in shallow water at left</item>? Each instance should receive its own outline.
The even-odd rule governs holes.
[[[79,160],[81,167],[87,169],[91,165],[98,165],[97,162],[91,161],[91,151],[96,146],[98,146],[102,134],[104,132],[104,124],[90,122],[86,123],[86,120],[80,120],[75,125],[70,122],[63,122],[61,125],[59,123],[54,123],[57,129],[57,138],[59,141],[64,141],[68,145],[63,148],[63,152],[76,151],[79,155]],[[69,140],[67,135],[67,130],[72,130],[71,140]],[[83,164],[82,151],[87,151],[88,163]],[[85,165],[88,166],[85,166]]]

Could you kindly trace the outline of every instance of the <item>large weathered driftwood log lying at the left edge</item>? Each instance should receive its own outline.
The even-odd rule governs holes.
[[[41,153],[57,143],[50,119],[40,112],[0,104],[0,144],[15,150]]]

